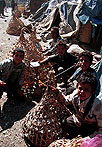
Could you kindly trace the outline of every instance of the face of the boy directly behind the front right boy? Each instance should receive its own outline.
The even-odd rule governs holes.
[[[82,68],[83,71],[86,71],[91,65],[90,60],[86,56],[82,56],[79,59],[79,66]]]

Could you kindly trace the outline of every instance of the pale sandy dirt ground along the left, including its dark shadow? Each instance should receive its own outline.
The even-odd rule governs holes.
[[[8,35],[6,29],[12,17],[11,9],[0,17],[0,61],[7,57],[8,52],[17,42],[19,36]],[[23,140],[22,121],[26,114],[35,106],[34,103],[22,102],[14,104],[7,99],[6,93],[0,99],[2,115],[0,116],[0,147],[27,147]]]

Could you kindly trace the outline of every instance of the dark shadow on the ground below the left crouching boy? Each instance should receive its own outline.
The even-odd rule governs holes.
[[[7,99],[2,108],[0,118],[1,132],[11,128],[14,122],[24,118],[26,114],[35,106],[33,102],[17,102]]]

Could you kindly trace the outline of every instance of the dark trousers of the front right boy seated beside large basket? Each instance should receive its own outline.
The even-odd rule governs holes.
[[[89,136],[97,130],[97,124],[82,123],[80,127],[76,126],[72,116],[68,117],[62,122],[63,136],[68,139],[72,139],[81,135],[82,137]]]

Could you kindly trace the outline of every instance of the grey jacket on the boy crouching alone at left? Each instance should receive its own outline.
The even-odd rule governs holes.
[[[24,69],[24,62],[15,65],[13,58],[5,59],[0,62],[0,80],[21,86],[24,82]]]

